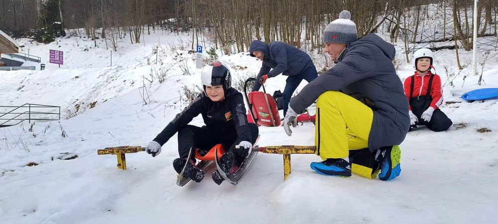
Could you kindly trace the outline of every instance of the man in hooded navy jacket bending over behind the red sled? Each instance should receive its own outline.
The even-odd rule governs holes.
[[[285,81],[285,89],[282,93],[284,115],[289,107],[290,97],[301,81],[304,79],[309,83],[318,76],[310,56],[289,44],[273,41],[266,45],[263,41],[253,40],[249,46],[249,52],[250,56],[263,61],[256,77],[257,81],[252,86],[252,91],[258,91],[261,83],[280,73],[289,76]],[[258,82],[259,80],[260,82]]]

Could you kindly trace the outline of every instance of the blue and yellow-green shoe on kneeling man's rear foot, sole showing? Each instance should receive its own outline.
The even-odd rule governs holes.
[[[401,149],[399,146],[381,147],[380,154],[377,157],[380,166],[380,174],[378,178],[383,181],[388,181],[396,178],[401,173]]]

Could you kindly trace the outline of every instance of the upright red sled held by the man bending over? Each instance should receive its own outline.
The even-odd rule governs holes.
[[[247,84],[250,81],[257,82],[254,78],[249,78],[244,84],[244,96],[248,102],[248,121],[249,123],[256,123],[258,125],[267,127],[280,126],[280,115],[278,114],[277,103],[275,99],[266,93],[263,87],[263,92],[250,92],[247,93]]]

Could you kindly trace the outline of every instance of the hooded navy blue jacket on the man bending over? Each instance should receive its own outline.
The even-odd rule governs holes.
[[[280,75],[280,73],[285,76],[295,76],[313,65],[310,56],[304,51],[280,41],[265,44],[263,41],[253,40],[249,46],[252,57],[254,57],[253,51],[261,51],[264,54],[261,69],[256,77],[257,80],[263,75],[268,75],[268,78],[271,78]],[[270,69],[272,70],[270,71]],[[259,90],[261,85],[257,84],[259,82],[255,82],[252,91]]]

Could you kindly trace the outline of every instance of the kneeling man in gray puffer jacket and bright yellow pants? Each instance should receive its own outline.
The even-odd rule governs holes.
[[[350,18],[344,10],[325,28],[325,52],[337,64],[291,99],[284,128],[290,136],[297,114],[318,99],[315,146],[324,161],[311,163],[311,168],[351,176],[349,158],[355,158],[355,151],[349,150],[365,149],[372,159],[355,158],[353,172],[374,178],[380,168],[379,178],[390,180],[401,172],[397,145],[410,124],[403,85],[392,64],[395,49],[375,34],[357,39]],[[380,167],[372,166],[375,160]]]

